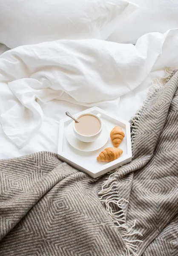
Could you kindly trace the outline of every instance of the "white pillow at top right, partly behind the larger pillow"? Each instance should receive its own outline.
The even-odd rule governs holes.
[[[135,44],[149,32],[164,33],[178,28],[178,0],[130,0],[140,6],[107,39],[118,43]]]

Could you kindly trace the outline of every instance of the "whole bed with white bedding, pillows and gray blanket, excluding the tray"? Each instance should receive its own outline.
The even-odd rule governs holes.
[[[178,20],[163,24],[158,1],[138,26],[149,3],[1,1],[0,255],[176,255]],[[129,121],[133,144],[131,163],[97,179],[57,159],[60,119],[92,106]]]

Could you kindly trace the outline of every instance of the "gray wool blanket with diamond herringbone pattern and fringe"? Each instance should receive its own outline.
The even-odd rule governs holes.
[[[178,255],[178,73],[131,128],[132,162],[97,179],[50,152],[0,160],[0,256]]]

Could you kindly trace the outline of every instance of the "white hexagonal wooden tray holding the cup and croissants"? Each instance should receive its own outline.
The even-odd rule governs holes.
[[[119,148],[123,150],[122,156],[110,163],[99,162],[96,160],[96,158],[104,148],[113,147],[110,136],[108,142],[102,148],[96,151],[83,152],[73,148],[66,139],[67,127],[69,123],[72,122],[72,119],[67,117],[61,119],[59,123],[59,142],[57,151],[58,158],[66,163],[69,163],[69,165],[74,166],[76,169],[82,172],[86,172],[93,178],[103,175],[106,172],[117,168],[118,166],[123,166],[124,164],[129,163],[132,160],[129,122],[120,119],[117,116],[114,116],[106,111],[103,111],[98,107],[89,108],[73,116],[77,118],[84,113],[100,113],[101,119],[108,128],[109,133],[115,126],[120,126],[123,129],[125,137],[122,143],[119,145]]]

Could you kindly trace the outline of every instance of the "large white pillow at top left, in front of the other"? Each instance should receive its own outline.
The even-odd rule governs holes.
[[[105,40],[137,8],[126,0],[0,0],[0,43]]]

